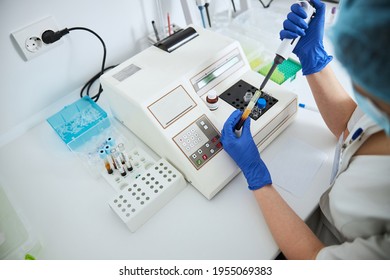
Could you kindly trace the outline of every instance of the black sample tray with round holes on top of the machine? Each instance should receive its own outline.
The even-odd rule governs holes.
[[[256,87],[248,84],[243,80],[239,80],[233,86],[224,91],[219,97],[232,105],[234,108],[244,111],[249,101],[246,102],[244,100],[244,95],[250,91],[252,94],[257,90]],[[274,106],[278,100],[273,96],[267,94],[266,92],[262,92],[260,98],[264,98],[266,100],[265,108],[259,110],[257,105],[253,108],[252,113],[249,115],[252,119],[257,120],[260,118],[265,112],[267,112],[272,106]]]

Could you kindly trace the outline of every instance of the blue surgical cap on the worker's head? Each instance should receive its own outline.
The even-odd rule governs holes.
[[[390,103],[390,1],[340,2],[329,33],[335,55],[354,83]]]

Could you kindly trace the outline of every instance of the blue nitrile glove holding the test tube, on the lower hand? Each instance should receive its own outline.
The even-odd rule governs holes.
[[[225,151],[241,168],[248,182],[250,190],[257,190],[265,185],[272,184],[271,175],[260,158],[259,150],[250,131],[250,118],[246,119],[242,127],[241,136],[235,133],[235,126],[240,120],[242,112],[234,111],[226,120],[223,129],[221,142]]]

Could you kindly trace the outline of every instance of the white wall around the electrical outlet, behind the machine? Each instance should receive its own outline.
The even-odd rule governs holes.
[[[106,65],[122,62],[145,47],[157,17],[155,0],[0,0],[0,139],[57,100],[76,92],[101,67],[102,46],[92,34],[73,31],[63,44],[30,61],[20,56],[11,32],[46,16],[60,28],[83,26],[107,46]],[[179,0],[164,0],[173,21]],[[179,22],[178,22],[179,21]],[[75,96],[76,98],[77,96]]]

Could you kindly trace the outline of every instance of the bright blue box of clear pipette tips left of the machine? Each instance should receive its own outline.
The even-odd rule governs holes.
[[[107,113],[89,96],[65,106],[47,122],[71,150],[110,126]]]

